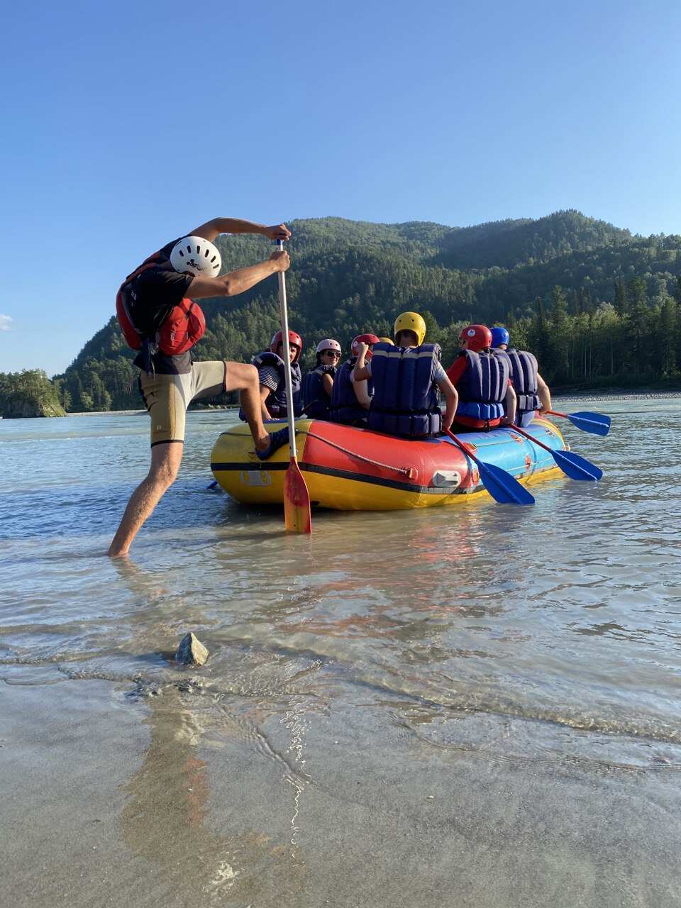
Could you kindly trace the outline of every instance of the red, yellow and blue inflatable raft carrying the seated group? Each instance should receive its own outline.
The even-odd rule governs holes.
[[[277,420],[265,428],[272,432],[282,425],[285,422]],[[568,450],[548,419],[535,419],[526,430],[551,449]],[[467,432],[459,438],[480,460],[508,470],[520,482],[562,475],[548,451],[513,429]],[[297,419],[296,442],[311,503],[322,508],[437,508],[489,494],[475,463],[447,436],[397,439],[321,419]],[[259,460],[244,423],[223,432],[212,449],[213,476],[243,504],[281,504],[288,466],[288,445]]]

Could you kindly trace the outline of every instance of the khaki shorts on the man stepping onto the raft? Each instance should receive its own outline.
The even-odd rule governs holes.
[[[184,375],[147,375],[140,373],[144,406],[152,418],[152,448],[173,441],[184,441],[184,422],[192,400],[214,397],[224,390],[227,377],[225,360],[194,362]]]

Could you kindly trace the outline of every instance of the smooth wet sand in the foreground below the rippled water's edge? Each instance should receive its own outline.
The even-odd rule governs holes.
[[[3,666],[0,903],[672,906],[678,766]],[[138,696],[139,695],[139,696]],[[369,699],[369,698],[368,698]],[[562,734],[560,729],[551,735]]]

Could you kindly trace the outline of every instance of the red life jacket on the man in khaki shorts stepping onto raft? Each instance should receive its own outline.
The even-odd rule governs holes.
[[[185,353],[197,341],[201,341],[206,330],[206,320],[201,306],[186,297],[181,300],[158,326],[155,337],[143,336],[134,326],[131,313],[123,297],[123,288],[133,281],[138,274],[147,268],[153,268],[163,262],[161,252],[154,252],[148,259],[129,274],[116,294],[116,318],[123,331],[123,337],[128,347],[132,350],[142,350],[144,341],[155,341],[158,349],[168,356],[178,356]]]

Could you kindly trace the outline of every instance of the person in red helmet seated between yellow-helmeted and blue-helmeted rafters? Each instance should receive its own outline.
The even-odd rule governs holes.
[[[453,430],[487,432],[511,425],[516,417],[516,394],[508,357],[491,350],[492,333],[487,325],[468,325],[459,341],[459,355],[447,370],[459,391]]]

